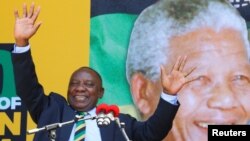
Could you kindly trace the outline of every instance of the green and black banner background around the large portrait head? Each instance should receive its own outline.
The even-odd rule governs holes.
[[[124,111],[137,115],[138,119],[125,76],[126,55],[134,21],[143,9],[156,1],[91,0],[90,66],[104,78],[106,93],[102,101],[119,103]],[[249,0],[230,2],[245,18],[249,29]]]

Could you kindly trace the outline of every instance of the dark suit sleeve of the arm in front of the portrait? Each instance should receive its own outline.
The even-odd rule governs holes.
[[[135,141],[161,141],[172,128],[179,105],[172,105],[160,99],[155,113],[145,122],[132,117],[121,117],[126,122],[126,133]]]

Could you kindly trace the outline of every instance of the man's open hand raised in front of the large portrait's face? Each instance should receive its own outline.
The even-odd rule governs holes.
[[[170,72],[167,72],[166,68],[161,66],[161,82],[164,93],[176,95],[187,82],[192,81],[192,78],[188,79],[187,76],[191,74],[195,68],[189,70],[188,72],[184,72],[183,68],[186,61],[187,56],[178,57],[173,69]]]

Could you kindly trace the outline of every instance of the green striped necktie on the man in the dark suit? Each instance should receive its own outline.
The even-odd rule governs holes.
[[[78,115],[85,115],[84,112],[78,112]],[[79,120],[76,122],[74,141],[84,141],[86,132],[85,120]]]

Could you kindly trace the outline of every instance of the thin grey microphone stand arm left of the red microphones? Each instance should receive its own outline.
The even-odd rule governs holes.
[[[61,122],[61,123],[53,123],[53,124],[49,124],[49,125],[45,125],[41,128],[35,128],[35,129],[31,129],[31,130],[28,130],[27,131],[27,134],[34,134],[36,132],[40,132],[40,131],[43,131],[43,130],[47,130],[49,132],[49,138],[51,141],[55,141],[56,140],[56,129],[57,128],[60,128],[64,125],[68,125],[68,124],[71,124],[71,123],[74,123],[74,122],[77,122],[77,121],[81,121],[81,120],[94,120],[96,117],[88,117],[88,118],[84,118],[83,116],[82,117],[76,117],[75,119],[73,120],[70,120],[70,121],[66,121],[66,122]]]

